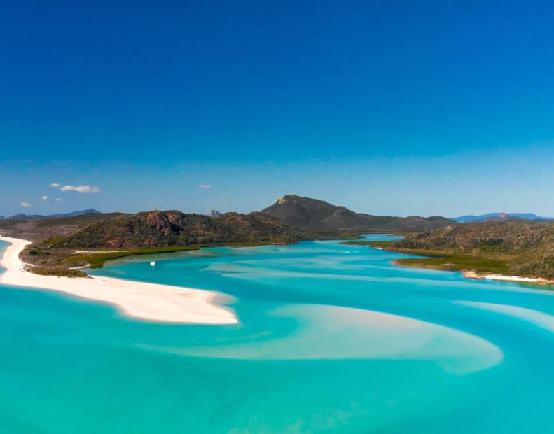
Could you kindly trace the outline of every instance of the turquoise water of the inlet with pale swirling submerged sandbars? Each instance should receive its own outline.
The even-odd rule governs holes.
[[[95,272],[219,290],[237,325],[0,287],[0,432],[551,432],[554,293],[397,257],[315,241]]]

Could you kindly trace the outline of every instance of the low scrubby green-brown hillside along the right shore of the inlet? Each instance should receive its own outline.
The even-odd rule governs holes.
[[[474,269],[554,280],[554,222],[485,221],[456,223],[394,242],[391,250],[433,258],[401,265]]]

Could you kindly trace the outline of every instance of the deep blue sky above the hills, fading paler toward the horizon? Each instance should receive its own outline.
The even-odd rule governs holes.
[[[0,215],[554,215],[550,2],[78,3],[3,3]]]

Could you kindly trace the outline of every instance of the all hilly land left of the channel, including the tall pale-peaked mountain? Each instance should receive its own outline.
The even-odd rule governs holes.
[[[0,233],[34,241],[22,253],[25,262],[34,265],[32,271],[81,276],[85,273],[76,267],[102,267],[106,260],[129,255],[202,246],[291,244],[314,238],[354,239],[366,230],[396,228],[410,232],[451,223],[445,218],[357,214],[345,207],[298,196],[286,196],[265,211],[268,212],[214,211],[212,216],[205,216],[155,210],[139,214],[10,219],[0,221]]]

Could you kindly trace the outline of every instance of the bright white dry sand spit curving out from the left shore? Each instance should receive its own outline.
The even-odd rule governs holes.
[[[0,260],[5,271],[0,283],[44,290],[55,290],[75,297],[112,304],[125,316],[144,321],[193,324],[235,324],[232,312],[212,303],[218,293],[104,276],[58,277],[26,272],[21,251],[31,241],[1,237],[9,245]]]

